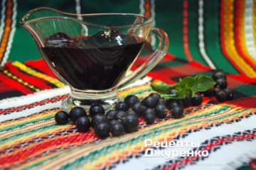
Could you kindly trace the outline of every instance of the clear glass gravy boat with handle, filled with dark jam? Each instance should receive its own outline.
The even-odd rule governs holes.
[[[139,14],[75,14],[41,7],[26,13],[20,23],[50,69],[70,86],[65,110],[92,103],[111,107],[118,101],[117,89],[143,77],[169,47],[164,30],[152,28],[153,21]],[[130,72],[149,36],[158,40],[158,47]]]

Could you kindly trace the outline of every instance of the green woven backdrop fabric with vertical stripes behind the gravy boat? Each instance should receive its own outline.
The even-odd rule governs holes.
[[[32,8],[49,6],[71,13],[141,13],[166,30],[169,53],[188,62],[201,62],[230,74],[256,77],[256,0],[3,0],[0,8],[0,64],[27,61],[41,55],[35,42],[18,25]],[[154,43],[154,38],[151,39]],[[26,52],[24,52],[26,49]]]

